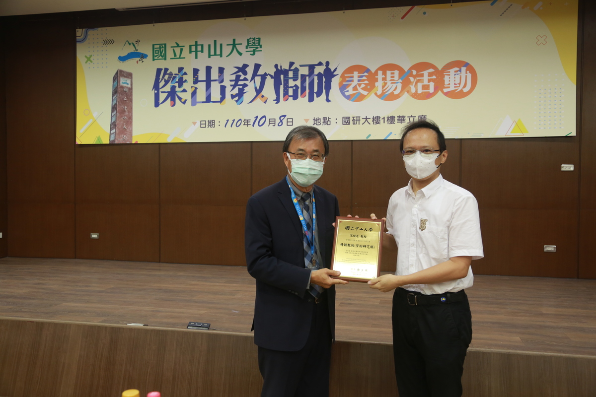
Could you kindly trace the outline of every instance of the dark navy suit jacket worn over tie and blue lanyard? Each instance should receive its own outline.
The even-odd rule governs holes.
[[[319,254],[330,267],[337,198],[314,186]],[[254,343],[266,349],[298,351],[311,329],[312,303],[306,287],[311,270],[304,265],[303,229],[285,178],[255,193],[246,206],[244,248],[256,279]],[[335,289],[326,290],[331,336],[335,337]]]

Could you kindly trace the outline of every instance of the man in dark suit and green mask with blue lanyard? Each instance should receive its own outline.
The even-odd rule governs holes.
[[[262,397],[327,397],[336,284],[330,270],[337,198],[314,183],[329,144],[316,127],[290,131],[288,175],[255,193],[246,207],[245,249],[256,279],[254,343]]]

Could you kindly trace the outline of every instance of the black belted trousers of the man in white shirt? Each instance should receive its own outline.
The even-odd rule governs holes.
[[[459,302],[410,305],[393,293],[393,359],[400,397],[460,397],[465,353],[472,339],[465,292]],[[412,299],[411,299],[412,302]]]

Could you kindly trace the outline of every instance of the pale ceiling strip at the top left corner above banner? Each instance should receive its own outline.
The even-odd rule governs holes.
[[[213,0],[0,0],[0,16],[49,12],[105,10],[106,8],[159,7],[218,2]]]

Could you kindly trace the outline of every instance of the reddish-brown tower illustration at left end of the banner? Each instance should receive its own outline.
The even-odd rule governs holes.
[[[121,69],[112,79],[110,143],[132,143],[132,73]]]

